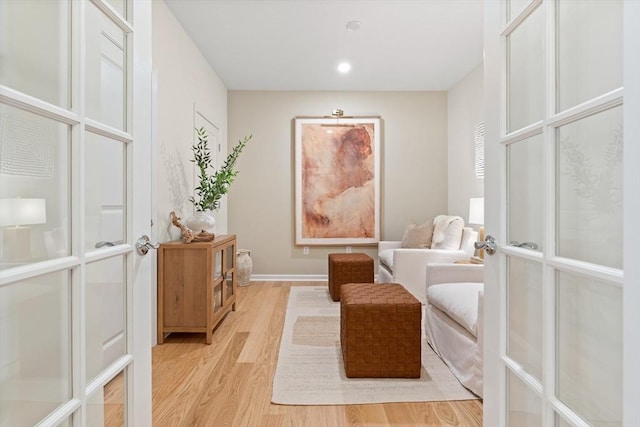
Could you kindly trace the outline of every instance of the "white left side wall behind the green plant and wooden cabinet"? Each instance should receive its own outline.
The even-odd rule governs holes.
[[[226,156],[227,89],[164,3],[153,2],[153,66],[157,74],[157,237],[180,238],[169,213],[193,213],[188,197],[195,187],[191,145],[195,111],[220,129]],[[216,213],[217,233],[227,230],[226,204]]]

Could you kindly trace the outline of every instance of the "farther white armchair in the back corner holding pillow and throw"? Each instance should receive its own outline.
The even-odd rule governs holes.
[[[423,304],[426,302],[425,279],[427,264],[468,260],[474,254],[478,232],[462,229],[457,250],[402,248],[400,241],[378,243],[378,283],[400,283]]]

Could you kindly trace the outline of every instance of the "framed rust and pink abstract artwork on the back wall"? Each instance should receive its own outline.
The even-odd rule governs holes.
[[[380,118],[296,117],[297,245],[380,240]]]

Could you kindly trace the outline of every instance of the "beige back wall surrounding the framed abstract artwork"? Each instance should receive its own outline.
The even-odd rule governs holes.
[[[251,249],[254,275],[327,274],[327,254],[344,247],[295,245],[295,116],[380,115],[381,236],[447,210],[446,92],[229,92],[229,145],[253,134],[229,192],[229,231]],[[375,257],[376,246],[353,248]]]

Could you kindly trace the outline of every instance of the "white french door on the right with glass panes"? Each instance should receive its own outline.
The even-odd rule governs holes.
[[[486,260],[487,426],[638,425],[637,323],[624,326],[640,305],[639,251],[625,244],[640,238],[627,227],[640,199],[627,170],[640,93],[627,82],[637,88],[640,64],[624,46],[640,33],[627,13],[637,2],[485,2],[485,206],[498,242]]]

